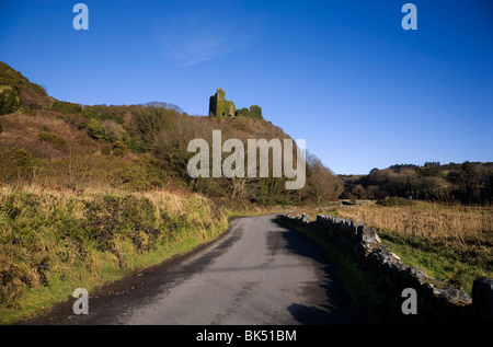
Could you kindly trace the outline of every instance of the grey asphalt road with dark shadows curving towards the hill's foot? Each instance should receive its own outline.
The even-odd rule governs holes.
[[[275,216],[240,218],[217,241],[59,305],[30,324],[358,324],[334,266]]]

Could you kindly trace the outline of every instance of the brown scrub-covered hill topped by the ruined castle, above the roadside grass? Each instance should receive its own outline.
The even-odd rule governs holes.
[[[0,63],[0,182],[81,190],[95,187],[148,190],[180,188],[215,198],[261,204],[335,199],[340,184],[316,158],[307,185],[284,189],[284,178],[192,178],[192,139],[288,139],[263,118],[191,116],[170,103],[80,105],[47,95],[7,63]],[[205,107],[208,100],[204,97]],[[211,143],[209,141],[209,143]],[[223,153],[227,157],[227,153]],[[314,175],[311,175],[311,173]],[[331,182],[320,189],[321,180]],[[312,193],[317,196],[312,197]],[[321,194],[320,192],[323,192]]]

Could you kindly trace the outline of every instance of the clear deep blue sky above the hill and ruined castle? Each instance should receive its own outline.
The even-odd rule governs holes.
[[[58,100],[206,115],[221,86],[337,174],[493,161],[493,1],[80,1],[89,31],[77,2],[0,4],[0,60]]]

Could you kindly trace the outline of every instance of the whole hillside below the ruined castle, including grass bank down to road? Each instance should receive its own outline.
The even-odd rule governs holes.
[[[0,63],[0,323],[214,240],[231,215],[309,200],[310,181],[287,192],[282,178],[191,178],[187,144],[211,143],[213,129],[222,141],[289,137],[169,105],[58,101]],[[313,183],[334,177],[312,162]]]

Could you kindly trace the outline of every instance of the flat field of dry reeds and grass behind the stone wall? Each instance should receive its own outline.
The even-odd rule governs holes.
[[[493,277],[493,207],[408,201],[397,206],[337,206],[329,213],[375,228],[404,263],[471,293]]]

